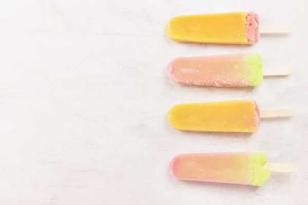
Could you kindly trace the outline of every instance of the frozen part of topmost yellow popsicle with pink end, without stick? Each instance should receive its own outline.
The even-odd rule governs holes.
[[[259,17],[254,12],[230,12],[176,16],[165,31],[177,42],[255,44]]]

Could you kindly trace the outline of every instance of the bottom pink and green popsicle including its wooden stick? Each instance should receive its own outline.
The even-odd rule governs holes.
[[[262,186],[271,171],[296,171],[294,165],[266,161],[261,152],[180,154],[171,160],[169,168],[181,180],[253,186]]]

